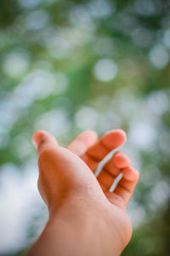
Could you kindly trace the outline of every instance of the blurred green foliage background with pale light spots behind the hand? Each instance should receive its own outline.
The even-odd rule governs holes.
[[[0,53],[0,255],[48,218],[32,133],[116,128],[141,173],[122,255],[170,255],[170,2],[1,0]]]

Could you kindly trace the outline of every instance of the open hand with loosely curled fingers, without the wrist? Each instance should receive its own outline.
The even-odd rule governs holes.
[[[94,131],[84,131],[68,148],[60,147],[45,131],[37,131],[33,139],[39,155],[38,188],[48,205],[49,219],[82,215],[82,223],[83,212],[93,215],[93,219],[101,217],[104,224],[99,229],[99,239],[103,242],[101,250],[105,247],[106,251],[115,253],[113,255],[121,253],[132,234],[126,206],[139,180],[139,172],[129,166],[130,159],[122,152],[114,154],[99,174],[98,181],[93,172],[106,154],[126,141],[124,131],[110,131],[99,141]],[[109,192],[111,183],[121,171],[121,182],[114,193]],[[112,238],[116,238],[116,243]]]

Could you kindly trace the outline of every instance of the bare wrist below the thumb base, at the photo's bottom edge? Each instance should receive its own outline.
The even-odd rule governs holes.
[[[113,226],[107,204],[72,197],[51,210],[48,223],[29,256],[118,256],[122,241]]]

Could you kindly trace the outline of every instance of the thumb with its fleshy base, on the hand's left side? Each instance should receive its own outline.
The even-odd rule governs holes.
[[[105,195],[94,173],[77,154],[68,148],[59,147],[57,140],[47,131],[37,131],[32,139],[39,156],[39,189],[47,190],[42,192],[43,198],[49,195],[49,198],[54,198],[55,201],[56,198],[62,197],[63,191],[70,190],[77,195],[81,193],[99,201],[104,200]]]

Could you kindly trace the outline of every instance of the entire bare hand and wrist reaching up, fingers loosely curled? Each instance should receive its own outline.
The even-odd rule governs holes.
[[[126,207],[139,172],[120,151],[98,179],[93,172],[106,154],[126,142],[125,132],[109,131],[98,139],[94,131],[83,131],[63,148],[46,131],[37,131],[33,142],[38,154],[38,189],[49,218],[27,255],[120,255],[132,236]],[[119,172],[122,180],[111,193]]]

